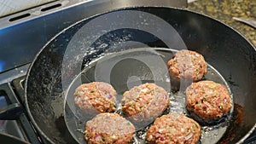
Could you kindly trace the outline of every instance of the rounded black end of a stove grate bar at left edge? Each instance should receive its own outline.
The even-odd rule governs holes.
[[[21,107],[18,103],[14,103],[7,107],[0,108],[0,119],[15,120],[20,117],[22,112],[24,112],[23,107]]]

